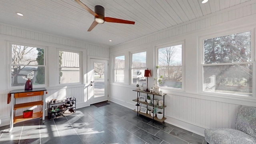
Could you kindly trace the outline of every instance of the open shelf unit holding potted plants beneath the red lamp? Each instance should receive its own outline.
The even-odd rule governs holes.
[[[164,96],[166,95],[165,93],[164,94],[158,94],[158,93],[155,93],[155,92],[145,92],[145,91],[142,91],[142,90],[132,90],[132,91],[135,91],[137,92],[137,99],[134,99],[132,101],[134,102],[137,102],[137,104],[145,104],[147,105],[147,108],[148,106],[152,106],[153,108],[156,107],[156,105],[154,105],[154,102],[152,104],[148,104],[147,102],[142,102],[142,101],[139,101],[139,96],[140,96],[140,93],[144,93],[144,94],[152,94],[153,95],[153,98],[151,100],[154,100],[154,96],[163,96],[163,101],[164,101]],[[164,104],[164,102],[163,102]],[[156,116],[155,117],[152,117],[150,114],[145,114],[143,112],[140,112],[140,111],[136,111],[135,109],[133,110],[134,112],[137,112],[137,116],[138,114],[141,114],[142,116],[146,116],[148,118],[152,118],[153,120],[156,120],[158,122],[164,122],[164,120],[166,120],[166,118],[164,117],[164,108],[166,108],[166,106],[162,106],[162,107],[159,107],[157,106],[158,109],[163,109],[163,118],[162,119],[158,119]]]

